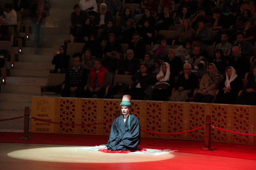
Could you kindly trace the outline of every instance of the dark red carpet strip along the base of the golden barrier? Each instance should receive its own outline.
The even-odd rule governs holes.
[[[106,144],[108,136],[96,135],[66,135],[66,134],[42,134],[29,133],[32,140],[20,140],[23,133],[0,132],[0,142],[2,143],[40,143],[59,145],[81,145],[96,146]],[[151,149],[171,149],[177,152],[196,153],[205,155],[216,155],[233,158],[256,160],[256,146],[235,145],[226,143],[211,143],[214,151],[202,151],[204,142],[171,140],[171,139],[151,139],[142,138],[140,148]]]

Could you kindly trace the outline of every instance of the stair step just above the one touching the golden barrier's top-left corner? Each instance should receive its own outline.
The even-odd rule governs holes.
[[[1,93],[41,94],[41,86],[35,85],[1,85]]]

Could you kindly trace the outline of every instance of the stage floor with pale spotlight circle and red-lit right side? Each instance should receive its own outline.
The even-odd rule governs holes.
[[[85,146],[0,143],[3,170],[255,169],[256,160],[173,152],[162,155],[102,153]],[[208,151],[211,152],[211,151]]]

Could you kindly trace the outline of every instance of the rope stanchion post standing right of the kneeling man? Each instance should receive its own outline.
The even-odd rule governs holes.
[[[204,132],[204,151],[214,151],[211,148],[211,115],[206,115],[205,118],[205,132]]]

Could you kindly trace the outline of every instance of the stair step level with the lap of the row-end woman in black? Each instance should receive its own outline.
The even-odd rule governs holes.
[[[10,62],[5,63],[5,68],[10,69]],[[15,62],[15,69],[51,70],[54,65],[50,62]]]

